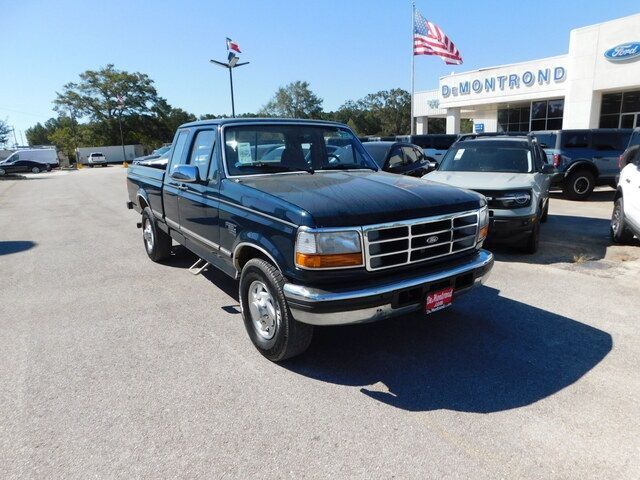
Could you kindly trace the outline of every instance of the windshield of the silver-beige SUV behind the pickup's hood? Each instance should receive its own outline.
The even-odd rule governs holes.
[[[439,168],[448,172],[530,173],[533,159],[526,142],[471,140],[452,146]]]

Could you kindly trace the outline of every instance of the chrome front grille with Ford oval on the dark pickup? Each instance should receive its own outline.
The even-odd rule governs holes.
[[[478,212],[364,227],[367,270],[425,262],[475,247]]]

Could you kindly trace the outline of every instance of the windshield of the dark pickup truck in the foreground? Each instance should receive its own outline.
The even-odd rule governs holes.
[[[377,167],[346,128],[321,125],[245,125],[224,131],[229,175]]]

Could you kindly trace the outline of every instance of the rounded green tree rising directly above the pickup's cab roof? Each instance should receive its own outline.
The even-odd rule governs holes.
[[[273,98],[259,112],[267,117],[320,118],[322,99],[300,80],[278,88]]]

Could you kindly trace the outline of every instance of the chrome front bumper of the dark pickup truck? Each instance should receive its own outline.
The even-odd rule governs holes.
[[[311,325],[365,323],[419,310],[431,286],[442,288],[441,285],[449,282],[454,287],[455,298],[484,283],[492,267],[493,254],[479,250],[453,264],[438,265],[415,276],[365,288],[323,290],[287,283],[284,294],[293,318],[299,322]],[[403,294],[410,300],[401,301]]]

